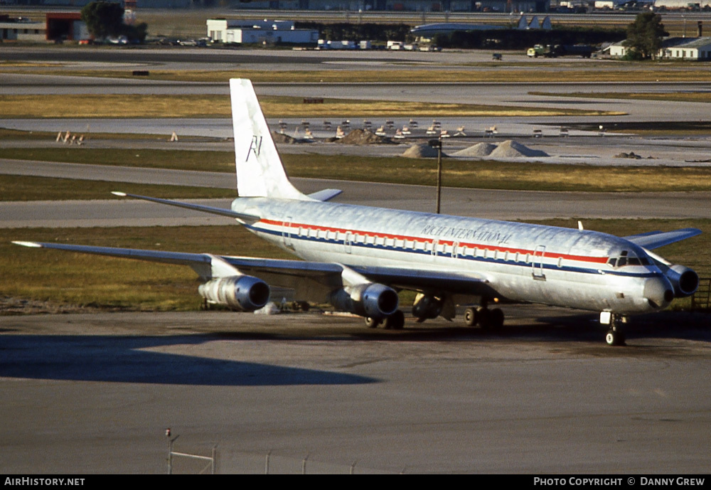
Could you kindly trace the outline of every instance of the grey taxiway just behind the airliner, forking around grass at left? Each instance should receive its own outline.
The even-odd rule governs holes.
[[[0,159],[0,174],[62,177],[178,186],[235,188],[235,176],[217,172],[173,171],[135,167],[61,164]],[[433,186],[391,183],[292,179],[305,193],[339,188],[334,201],[362,206],[432,212]],[[120,187],[120,186],[119,186]],[[117,188],[117,190],[122,190]],[[230,199],[187,200],[206,206],[230,208]],[[708,192],[586,193],[498,191],[444,188],[442,212],[498,220],[570,218],[711,218]],[[622,205],[621,205],[622,204]],[[74,228],[101,226],[232,225],[233,220],[171,206],[132,199],[100,201],[28,201],[3,203],[0,228]]]

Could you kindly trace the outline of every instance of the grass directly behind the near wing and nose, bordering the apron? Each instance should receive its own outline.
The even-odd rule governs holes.
[[[539,223],[574,228],[574,220]],[[588,230],[633,235],[695,227],[703,234],[658,253],[711,275],[711,220],[584,220]],[[19,247],[11,240],[293,258],[239,226],[0,229],[0,297],[130,310],[196,310],[199,281],[186,266]],[[688,304],[687,300],[677,300]],[[676,302],[675,302],[676,303]],[[1,312],[0,312],[1,314]]]

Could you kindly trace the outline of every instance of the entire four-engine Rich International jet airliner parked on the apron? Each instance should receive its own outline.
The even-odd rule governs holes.
[[[237,192],[232,209],[117,193],[235,218],[252,233],[303,260],[270,260],[55,243],[18,242],[189,265],[208,304],[255,311],[269,301],[269,284],[294,289],[299,301],[330,302],[365,317],[368,326],[401,329],[397,291],[417,297],[419,321],[453,319],[457,304],[467,325],[503,324],[498,302],[533,302],[600,312],[606,341],[624,343],[631,314],[664,309],[693,294],[698,276],[653,250],[700,230],[685,228],[619,238],[578,229],[463,218],[328,203],[340,191],[308,196],[292,186],[250,80],[230,80]]]

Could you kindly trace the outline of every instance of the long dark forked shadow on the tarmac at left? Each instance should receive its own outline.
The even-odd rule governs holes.
[[[352,385],[375,378],[140,349],[195,345],[214,335],[38,336],[2,338],[0,376],[48,380],[174,385]]]

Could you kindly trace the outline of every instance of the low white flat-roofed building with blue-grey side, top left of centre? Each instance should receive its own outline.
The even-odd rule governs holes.
[[[314,29],[297,29],[294,21],[263,21],[237,20],[225,18],[208,18],[208,37],[219,43],[249,43],[249,44],[316,44],[319,41],[319,31]]]

